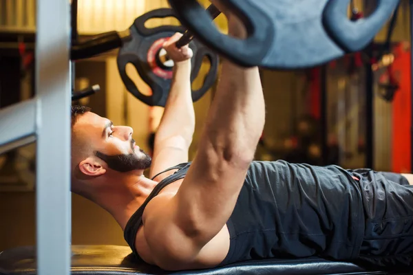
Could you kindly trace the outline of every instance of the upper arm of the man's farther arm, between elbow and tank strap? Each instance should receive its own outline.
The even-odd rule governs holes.
[[[156,142],[150,177],[152,178],[172,166],[188,162],[188,150],[189,144],[182,137],[169,137],[167,140]],[[161,179],[158,178],[158,180]]]

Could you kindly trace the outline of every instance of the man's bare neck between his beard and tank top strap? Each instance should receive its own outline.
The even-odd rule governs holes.
[[[119,179],[113,180],[111,184],[114,188],[99,192],[94,201],[112,214],[120,227],[125,230],[131,215],[142,206],[158,182],[147,179],[143,175],[126,177],[121,179],[122,183],[118,181]]]

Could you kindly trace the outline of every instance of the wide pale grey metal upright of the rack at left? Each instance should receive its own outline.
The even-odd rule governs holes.
[[[36,1],[37,273],[70,274],[70,3]]]

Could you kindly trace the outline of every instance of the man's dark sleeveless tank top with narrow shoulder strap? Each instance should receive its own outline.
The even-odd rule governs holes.
[[[162,188],[187,174],[180,164],[160,181],[125,227],[125,240],[135,249],[147,203]],[[162,172],[163,173],[163,172]],[[226,225],[230,248],[220,266],[251,259],[357,259],[364,232],[357,182],[339,166],[310,166],[284,161],[252,162]]]

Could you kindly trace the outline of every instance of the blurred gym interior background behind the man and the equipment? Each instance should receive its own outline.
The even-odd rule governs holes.
[[[124,30],[140,14],[169,7],[167,0],[96,2],[78,0],[80,39]],[[368,12],[370,1],[351,2]],[[0,108],[28,100],[36,92],[35,7],[35,0],[0,0]],[[266,124],[255,159],[411,173],[410,16],[409,1],[401,0],[394,21],[361,52],[308,69],[261,69]],[[226,31],[224,18],[215,22]],[[176,21],[148,22],[153,27],[165,23]],[[163,108],[148,106],[127,91],[116,67],[117,54],[111,50],[73,63],[75,90],[100,86],[76,102],[114,124],[133,127],[136,143],[150,152]],[[202,67],[200,74],[207,69]],[[140,76],[130,74],[142,93],[150,94]],[[197,78],[193,85],[202,85],[202,80]],[[189,159],[196,154],[215,87],[194,103],[196,126]],[[35,144],[0,155],[0,251],[36,244],[35,156]],[[127,245],[118,223],[91,201],[72,194],[71,215],[72,245]]]

